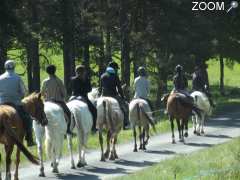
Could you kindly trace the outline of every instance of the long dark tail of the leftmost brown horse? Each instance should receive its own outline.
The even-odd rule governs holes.
[[[38,158],[32,155],[27,148],[22,144],[22,142],[18,139],[17,135],[14,133],[12,128],[8,125],[7,121],[3,121],[3,126],[8,136],[11,137],[13,142],[17,145],[20,151],[31,161],[33,164],[39,165]]]

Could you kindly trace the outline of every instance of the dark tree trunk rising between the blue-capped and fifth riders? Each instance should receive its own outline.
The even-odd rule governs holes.
[[[127,0],[120,1],[120,31],[121,31],[121,67],[122,81],[130,86],[130,42],[129,21],[127,17]]]

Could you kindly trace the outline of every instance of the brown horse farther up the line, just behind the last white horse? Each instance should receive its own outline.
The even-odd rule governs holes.
[[[192,111],[199,114],[199,109],[191,103],[186,103],[184,100],[185,97],[177,92],[173,92],[165,98],[167,98],[167,112],[171,122],[172,143],[175,143],[174,119],[177,122],[179,140],[180,142],[184,142],[184,136],[188,137],[188,118],[191,116]],[[185,133],[183,134],[184,129]]]

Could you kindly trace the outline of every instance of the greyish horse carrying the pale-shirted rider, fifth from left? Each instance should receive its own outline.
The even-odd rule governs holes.
[[[139,149],[146,150],[146,145],[149,140],[149,125],[153,127],[155,130],[154,119],[152,117],[152,113],[150,113],[151,108],[149,104],[144,99],[133,99],[129,104],[129,120],[133,129],[134,136],[134,150],[133,152],[137,152],[137,140],[136,140],[136,126],[139,129],[139,139],[140,139],[140,147]],[[143,128],[143,131],[142,131]],[[146,133],[146,140],[145,140]]]

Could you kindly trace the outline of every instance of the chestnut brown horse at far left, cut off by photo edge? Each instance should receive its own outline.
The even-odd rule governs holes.
[[[40,93],[33,93],[26,97],[23,100],[23,106],[36,121],[42,125],[47,124],[46,115],[44,113],[44,105]],[[23,145],[24,135],[25,130],[23,120],[19,117],[17,111],[12,106],[0,105],[0,143],[4,144],[6,153],[6,180],[11,179],[10,166],[14,145],[17,145],[16,169],[14,174],[15,180],[18,180],[20,151],[22,151],[32,163],[37,165],[39,164],[38,159],[34,157]]]

